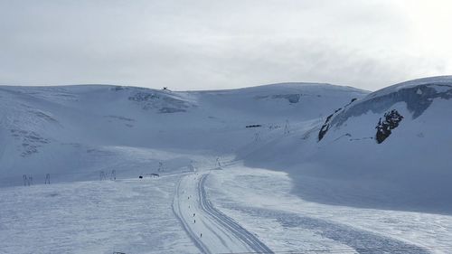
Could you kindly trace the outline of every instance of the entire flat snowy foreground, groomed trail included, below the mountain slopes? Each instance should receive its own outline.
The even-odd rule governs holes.
[[[307,202],[291,193],[294,183],[287,174],[240,162],[208,170],[215,160],[204,158],[209,161],[196,173],[159,178],[2,188],[0,252],[448,253],[451,248],[452,216]]]

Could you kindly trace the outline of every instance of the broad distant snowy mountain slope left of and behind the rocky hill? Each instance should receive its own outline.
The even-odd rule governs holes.
[[[365,94],[306,83],[193,92],[4,86],[0,182],[22,184],[23,174],[43,182],[47,173],[57,181],[95,180],[112,170],[136,176],[156,173],[159,163],[185,171],[193,158],[184,154],[232,154],[250,143],[255,129],[247,125],[296,126]]]

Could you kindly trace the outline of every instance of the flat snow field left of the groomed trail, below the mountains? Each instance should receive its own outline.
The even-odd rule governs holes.
[[[3,188],[0,253],[197,253],[171,216],[179,177]]]

